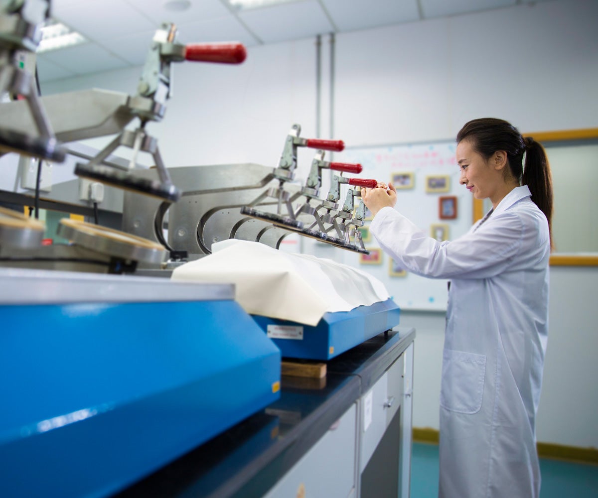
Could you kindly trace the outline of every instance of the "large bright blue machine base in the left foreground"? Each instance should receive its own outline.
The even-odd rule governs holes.
[[[279,399],[230,300],[0,306],[0,494],[108,496]]]

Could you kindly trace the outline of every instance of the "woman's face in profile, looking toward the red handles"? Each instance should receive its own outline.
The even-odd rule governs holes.
[[[461,140],[457,144],[457,164],[459,164],[459,183],[465,185],[477,199],[495,197],[498,181],[501,178],[495,168],[480,154],[474,151],[468,140]]]

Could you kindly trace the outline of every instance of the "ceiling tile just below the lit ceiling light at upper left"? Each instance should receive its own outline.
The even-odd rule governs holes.
[[[75,47],[44,53],[44,58],[69,69],[75,74],[109,71],[129,66],[129,63],[94,43],[85,43]]]

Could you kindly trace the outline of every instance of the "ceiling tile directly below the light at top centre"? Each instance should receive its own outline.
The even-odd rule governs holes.
[[[334,31],[316,0],[241,11],[238,16],[265,43],[309,38]]]

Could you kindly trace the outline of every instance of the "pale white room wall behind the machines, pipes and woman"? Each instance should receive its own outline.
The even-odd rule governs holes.
[[[451,139],[469,119],[490,115],[522,132],[595,127],[596,26],[598,2],[555,0],[337,35],[333,138],[348,146],[431,142]],[[149,127],[166,165],[275,166],[292,123],[303,126],[302,136],[315,136],[315,60],[310,39],[251,47],[242,66],[176,66],[166,117]],[[140,73],[112,71],[46,83],[42,90],[133,93]],[[325,94],[323,138],[327,105]],[[300,152],[299,178],[311,157]],[[325,257],[337,252],[327,250]],[[598,447],[598,392],[591,384],[598,373],[596,271],[553,268],[551,277],[538,440]],[[444,323],[442,313],[402,314],[401,325],[417,329],[417,427],[438,428]]]

